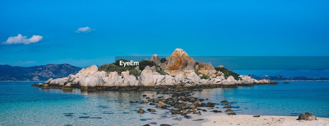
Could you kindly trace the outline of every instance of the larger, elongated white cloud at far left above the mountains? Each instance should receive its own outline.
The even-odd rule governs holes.
[[[36,43],[40,40],[42,40],[42,36],[40,35],[33,35],[31,38],[27,39],[27,36],[23,36],[21,34],[18,34],[17,36],[9,37],[7,41],[2,42],[2,44],[30,44],[30,43]]]

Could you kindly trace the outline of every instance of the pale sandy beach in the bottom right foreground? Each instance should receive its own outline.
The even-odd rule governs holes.
[[[204,117],[203,126],[325,126],[329,125],[329,118],[317,117],[317,120],[296,120],[296,116],[260,116],[253,115],[216,115]]]

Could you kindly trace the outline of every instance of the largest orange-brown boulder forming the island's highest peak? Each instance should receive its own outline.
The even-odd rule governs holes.
[[[171,72],[178,69],[186,69],[191,71],[194,70],[195,64],[196,61],[191,58],[183,49],[175,49],[175,51],[168,58],[168,64],[165,68],[165,72]]]

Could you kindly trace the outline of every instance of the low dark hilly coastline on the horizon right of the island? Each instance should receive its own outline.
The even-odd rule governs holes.
[[[250,76],[251,78],[254,78],[256,80],[329,80],[329,78],[325,78],[325,77],[320,77],[320,78],[310,78],[310,77],[306,77],[306,76],[296,76],[296,77],[284,77],[282,75],[276,75],[276,76],[268,76],[268,75],[263,75],[261,77],[258,77],[254,74],[248,74],[248,76]]]

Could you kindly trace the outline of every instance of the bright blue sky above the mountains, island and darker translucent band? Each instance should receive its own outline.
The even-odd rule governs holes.
[[[114,56],[329,56],[329,1],[0,1],[0,64]],[[87,31],[76,32],[78,28]],[[85,29],[86,30],[86,29]],[[25,39],[9,43],[9,37]],[[33,35],[42,39],[28,39]],[[36,37],[38,37],[36,36]],[[37,41],[37,42],[36,42]]]

